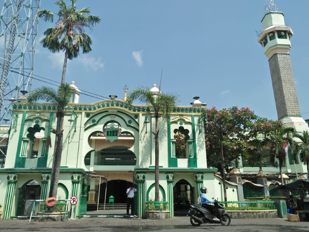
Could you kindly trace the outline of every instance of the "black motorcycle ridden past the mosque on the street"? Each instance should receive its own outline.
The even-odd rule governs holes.
[[[189,209],[187,216],[191,216],[190,222],[192,226],[200,226],[202,223],[221,223],[222,226],[230,225],[231,217],[228,213],[225,212],[224,206],[219,204],[219,202],[216,200],[214,205],[217,207],[216,217],[220,219],[219,221],[213,220],[212,214],[204,207],[190,204],[191,208]],[[196,213],[193,214],[194,210]]]

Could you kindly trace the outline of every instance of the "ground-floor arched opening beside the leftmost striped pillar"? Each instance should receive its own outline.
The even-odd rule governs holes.
[[[16,216],[30,214],[33,206],[33,202],[30,202],[30,200],[40,199],[40,196],[41,186],[37,181],[29,180],[24,183],[23,186],[19,188]],[[36,205],[36,209],[38,205]]]

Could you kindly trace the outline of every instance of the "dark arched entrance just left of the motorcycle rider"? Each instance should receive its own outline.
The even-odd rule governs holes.
[[[193,196],[191,184],[185,179],[179,180],[173,187],[174,212],[188,210]]]

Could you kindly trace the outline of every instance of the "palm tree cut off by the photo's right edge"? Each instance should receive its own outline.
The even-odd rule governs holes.
[[[303,131],[303,133],[301,135],[299,135],[298,133],[294,133],[294,137],[300,139],[302,142],[300,144],[297,144],[297,148],[299,151],[299,157],[300,157],[300,161],[307,165],[307,179],[309,181],[309,132]],[[296,158],[296,153],[293,154],[293,159],[295,160]]]

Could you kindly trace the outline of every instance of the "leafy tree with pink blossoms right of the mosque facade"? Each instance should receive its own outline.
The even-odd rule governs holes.
[[[258,135],[271,130],[276,122],[259,118],[249,107],[218,110],[215,106],[205,110],[205,143],[207,164],[221,173],[226,197],[226,175],[238,164],[239,156],[247,154]]]

